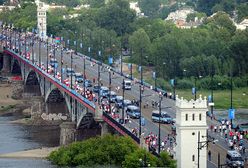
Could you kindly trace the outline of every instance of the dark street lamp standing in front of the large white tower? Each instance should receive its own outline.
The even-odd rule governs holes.
[[[201,133],[198,131],[198,142],[197,142],[197,168],[200,168],[200,150],[204,147],[208,146],[208,143],[212,142],[215,144],[218,142],[217,139],[211,137],[211,136],[202,136],[202,138],[207,138],[206,141],[200,141]]]

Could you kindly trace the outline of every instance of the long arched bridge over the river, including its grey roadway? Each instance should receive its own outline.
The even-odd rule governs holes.
[[[62,134],[64,134],[64,137],[68,138],[68,140],[66,140],[67,142],[72,142],[75,139],[75,135],[67,133],[68,131],[66,130],[72,130],[74,128],[80,129],[84,126],[87,127],[89,123],[92,122],[92,118],[94,119],[94,122],[100,123],[102,133],[108,131],[108,127],[110,126],[119,134],[130,136],[137,143],[142,143],[140,141],[142,138],[139,136],[141,133],[144,133],[144,136],[147,136],[150,132],[157,135],[159,134],[159,125],[153,123],[151,120],[151,110],[153,110],[153,107],[151,107],[150,104],[152,104],[152,101],[160,101],[158,92],[161,90],[150,89],[151,87],[149,84],[136,79],[136,83],[132,86],[132,91],[125,91],[124,96],[128,99],[139,100],[140,84],[144,84],[145,91],[142,94],[143,101],[141,107],[142,117],[146,120],[145,126],[142,126],[141,128],[141,123],[137,122],[135,119],[130,119],[131,123],[129,124],[120,123],[119,120],[115,119],[109,113],[100,110],[98,102],[90,101],[85,98],[84,95],[76,91],[77,89],[72,85],[72,83],[68,85],[63,80],[66,79],[66,76],[62,72],[62,69],[65,67],[72,67],[77,72],[86,71],[84,73],[87,73],[88,79],[99,79],[100,73],[103,85],[107,85],[110,79],[110,73],[108,70],[106,71],[104,68],[101,68],[107,67],[107,65],[84,54],[75,52],[67,53],[64,46],[58,46],[56,48],[53,39],[41,41],[40,39],[35,38],[35,36],[27,36],[26,33],[21,32],[15,32],[15,37],[13,37],[13,33],[8,32],[8,30],[2,30],[2,35],[4,35],[1,40],[1,46],[3,47],[2,52],[4,54],[2,71],[6,73],[19,71],[24,85],[38,85],[41,95],[46,103],[65,102],[69,116],[68,121],[74,123],[63,126],[64,133]],[[52,68],[49,67],[49,62],[51,60],[49,54],[51,53],[59,62],[57,71],[61,69],[61,76],[50,71]],[[128,74],[121,73],[117,69],[111,68],[111,72],[115,72],[114,77],[112,77],[112,88],[122,86],[123,79],[129,78]],[[69,81],[72,80],[69,79]],[[149,107],[143,108],[143,105],[146,105],[146,103],[149,104]],[[161,108],[171,107],[166,109],[166,111],[175,118],[175,101],[164,97],[161,100],[161,104]],[[208,124],[216,124],[216,122],[208,119]],[[138,130],[136,135],[131,132],[133,128],[139,127],[141,128],[141,132]],[[162,125],[160,133],[161,137],[171,134],[171,126]],[[221,150],[226,151],[228,149],[226,142],[218,136],[216,138],[219,139],[218,144],[222,147]]]

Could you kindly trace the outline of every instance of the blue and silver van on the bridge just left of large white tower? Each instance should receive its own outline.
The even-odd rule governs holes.
[[[160,121],[159,121],[159,117],[160,117]],[[152,121],[153,122],[160,122],[160,123],[164,123],[164,124],[172,124],[173,123],[173,119],[167,114],[167,112],[161,111],[161,114],[160,114],[158,110],[154,110],[152,112]]]

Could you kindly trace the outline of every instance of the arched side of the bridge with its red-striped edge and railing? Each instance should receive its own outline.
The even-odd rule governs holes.
[[[21,37],[21,35],[18,35],[18,37]],[[15,41],[15,47],[13,46],[13,43],[11,43],[11,40]],[[24,40],[24,43],[28,43],[30,40],[30,38],[27,38]],[[69,131],[64,133],[64,137],[71,134],[70,129],[74,129],[74,125],[76,129],[80,129],[89,126],[92,124],[92,120],[94,120],[93,122],[100,123],[102,132],[108,132],[107,123],[119,134],[131,136],[139,143],[139,138],[132,134],[129,129],[118,123],[106,112],[99,110],[97,102],[89,101],[82,94],[78,93],[75,88],[63,83],[62,79],[57,75],[55,76],[54,73],[49,73],[48,68],[44,69],[44,67],[48,67],[48,64],[41,66],[38,60],[35,60],[34,54],[31,55],[31,57],[33,56],[33,60],[30,59],[27,46],[22,45],[21,41],[21,38],[14,39],[13,37],[7,37],[5,38],[5,41],[1,41],[3,53],[2,72],[19,72],[25,86],[38,85],[40,94],[44,98],[45,103],[65,102],[67,107],[67,110],[65,111],[68,111],[68,121],[75,124],[67,123],[64,124],[65,126],[61,127],[64,128],[64,130],[69,128]],[[19,49],[17,49],[17,45],[19,45]],[[46,55],[43,55],[43,58],[45,56]],[[71,138],[72,139],[63,140],[61,143],[70,143],[74,141],[74,135],[71,135]]]

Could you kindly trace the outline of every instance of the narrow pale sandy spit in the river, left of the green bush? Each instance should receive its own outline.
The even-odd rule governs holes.
[[[50,148],[39,148],[39,149],[31,149],[19,152],[12,152],[6,154],[0,154],[0,158],[34,158],[34,159],[45,159],[52,151],[57,150],[58,147],[50,147]]]

